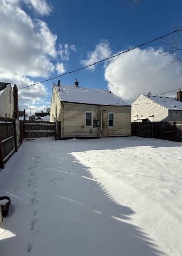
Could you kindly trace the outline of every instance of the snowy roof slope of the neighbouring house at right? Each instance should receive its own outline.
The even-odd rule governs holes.
[[[175,100],[172,97],[161,97],[161,96],[148,96],[143,95],[146,98],[150,98],[154,102],[158,103],[159,105],[166,107],[167,109],[171,110],[182,110],[182,102],[179,100]]]

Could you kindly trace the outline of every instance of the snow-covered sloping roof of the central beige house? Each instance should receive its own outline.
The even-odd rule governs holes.
[[[55,85],[61,101],[77,102],[95,105],[114,105],[114,106],[129,106],[122,98],[108,90],[77,87],[69,85]],[[122,103],[123,102],[123,103]]]

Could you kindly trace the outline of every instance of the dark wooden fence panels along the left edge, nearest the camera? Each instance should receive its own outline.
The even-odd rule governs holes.
[[[0,168],[22,143],[20,124],[15,118],[0,117]]]

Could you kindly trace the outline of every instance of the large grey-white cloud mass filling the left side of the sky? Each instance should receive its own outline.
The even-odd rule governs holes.
[[[20,0],[0,0],[0,81],[23,87],[33,84],[28,77],[49,77],[56,59],[56,35],[42,20],[33,20],[21,9]],[[19,90],[19,107],[43,104],[43,84]]]

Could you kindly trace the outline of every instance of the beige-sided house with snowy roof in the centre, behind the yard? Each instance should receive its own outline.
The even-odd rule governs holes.
[[[131,106],[108,90],[53,85],[51,122],[61,122],[61,138],[131,135]]]

